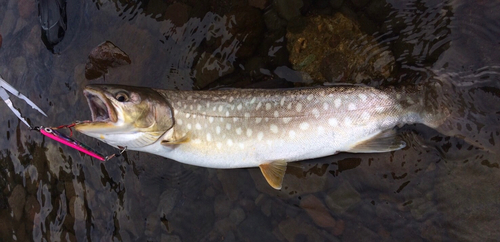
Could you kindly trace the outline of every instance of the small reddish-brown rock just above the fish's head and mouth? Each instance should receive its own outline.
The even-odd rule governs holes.
[[[108,68],[128,65],[132,63],[130,57],[111,41],[101,43],[89,54],[85,65],[85,78],[93,80],[108,73]]]

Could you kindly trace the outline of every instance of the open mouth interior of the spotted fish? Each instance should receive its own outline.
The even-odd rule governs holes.
[[[87,98],[90,112],[92,113],[92,122],[115,123],[117,121],[113,105],[101,92],[85,89],[83,94]]]

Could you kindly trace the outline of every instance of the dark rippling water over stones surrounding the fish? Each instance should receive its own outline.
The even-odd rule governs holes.
[[[449,133],[456,137],[406,126],[401,151],[293,163],[275,191],[256,168],[206,169],[138,152],[102,163],[44,139],[0,105],[0,240],[498,240],[499,11],[497,1],[71,1],[52,54],[34,1],[2,1],[0,75],[46,111],[48,118],[15,102],[35,125],[88,119],[81,94],[88,83],[198,89],[444,80],[455,85]],[[360,33],[306,25],[337,13]],[[314,29],[329,42],[301,35]],[[88,81],[87,56],[106,40],[132,64]],[[294,63],[295,52],[326,53],[344,42],[347,52],[320,64],[308,65],[318,54]]]

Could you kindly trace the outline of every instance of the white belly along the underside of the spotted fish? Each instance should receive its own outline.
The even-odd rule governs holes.
[[[323,126],[310,126],[303,131],[285,130],[283,131],[285,135],[270,136],[275,138],[269,139],[265,138],[266,135],[260,138],[258,133],[254,138],[247,137],[241,140],[195,139],[172,147],[165,147],[161,142],[156,142],[138,150],[202,167],[219,169],[257,167],[276,160],[293,162],[349,151],[356,144],[371,139],[382,130],[379,124],[374,123],[347,130],[326,130]]]

